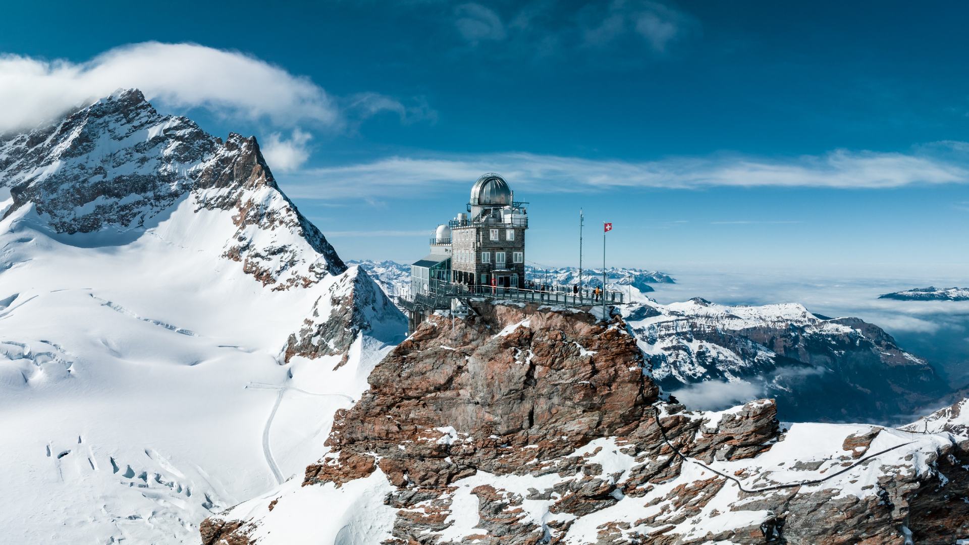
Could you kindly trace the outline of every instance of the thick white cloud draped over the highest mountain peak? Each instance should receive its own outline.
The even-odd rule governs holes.
[[[340,99],[309,78],[245,53],[145,42],[113,48],[81,63],[0,54],[0,133],[32,128],[118,88],[132,87],[149,101],[174,109],[205,108],[287,128],[340,129],[348,117],[355,121],[391,111],[403,118],[409,112],[377,93],[363,93],[366,109],[344,112]]]

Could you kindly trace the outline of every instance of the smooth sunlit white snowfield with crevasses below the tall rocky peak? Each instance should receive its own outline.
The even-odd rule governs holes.
[[[193,198],[112,236],[55,235],[32,207],[0,222],[0,541],[197,543],[326,452],[390,349],[281,365],[340,277],[271,291],[220,257],[232,213]]]

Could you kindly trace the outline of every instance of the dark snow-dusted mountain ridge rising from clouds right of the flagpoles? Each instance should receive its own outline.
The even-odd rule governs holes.
[[[684,400],[746,385],[777,399],[785,420],[884,422],[948,393],[931,365],[858,318],[702,299],[632,305],[623,315],[653,379]]]

